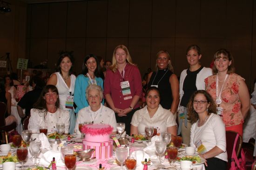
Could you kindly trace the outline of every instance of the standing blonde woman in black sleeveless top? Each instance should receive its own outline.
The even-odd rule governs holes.
[[[159,89],[161,106],[175,114],[179,104],[179,81],[167,50],[160,50],[156,54],[155,71],[148,74],[149,87]]]

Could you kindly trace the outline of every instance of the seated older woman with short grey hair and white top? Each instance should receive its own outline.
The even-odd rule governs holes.
[[[81,94],[82,95],[82,94]],[[79,124],[84,122],[103,123],[114,127],[112,134],[116,134],[115,112],[101,104],[103,99],[103,90],[96,84],[91,84],[86,88],[86,99],[88,107],[84,107],[78,112],[75,123],[75,132],[81,135]]]

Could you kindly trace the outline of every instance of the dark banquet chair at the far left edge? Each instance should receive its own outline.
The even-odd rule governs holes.
[[[8,143],[8,133],[9,131],[16,128],[16,122],[13,122],[11,125],[6,126],[5,122],[5,114],[7,111],[7,106],[4,102],[0,102],[0,132],[3,139],[5,139],[5,143]]]

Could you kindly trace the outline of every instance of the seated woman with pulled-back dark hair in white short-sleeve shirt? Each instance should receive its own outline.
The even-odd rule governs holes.
[[[158,88],[150,87],[146,92],[147,106],[136,111],[131,122],[132,134],[145,134],[145,126],[154,126],[159,133],[168,132],[177,135],[177,124],[170,110],[164,109],[160,103]]]

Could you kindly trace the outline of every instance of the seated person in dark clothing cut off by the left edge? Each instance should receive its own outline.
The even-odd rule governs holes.
[[[16,118],[13,115],[11,115],[11,102],[12,102],[11,94],[5,90],[5,86],[2,83],[0,83],[0,101],[4,102],[7,106],[7,110],[4,116],[5,126],[11,125],[13,122],[17,123]],[[3,118],[0,118],[0,119],[3,119]]]

